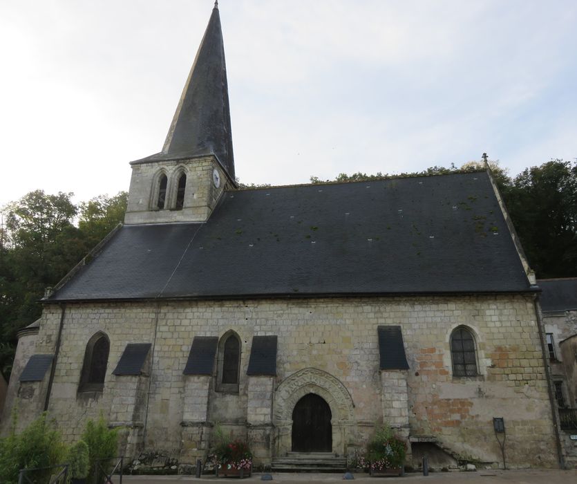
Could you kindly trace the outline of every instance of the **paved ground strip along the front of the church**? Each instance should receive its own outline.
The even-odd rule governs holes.
[[[243,479],[243,483],[261,482],[262,474],[253,474],[252,477]],[[305,482],[319,483],[342,483],[343,474],[272,474],[274,481],[283,484],[303,484]],[[113,478],[117,484],[118,478]],[[570,471],[551,470],[523,470],[523,471],[498,471],[486,470],[477,472],[431,472],[428,476],[422,474],[406,474],[404,477],[369,477],[368,474],[354,474],[357,483],[383,483],[383,484],[577,484],[577,469]],[[194,476],[124,476],[123,483],[128,484],[178,484],[193,482],[215,483],[235,482],[235,478],[215,476],[202,476],[197,479]]]

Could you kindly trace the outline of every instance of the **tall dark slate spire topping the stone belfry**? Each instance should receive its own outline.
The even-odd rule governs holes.
[[[162,153],[151,158],[214,154],[234,180],[229,94],[218,1],[180,96]]]

